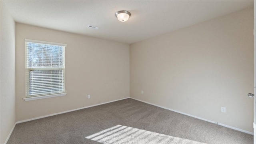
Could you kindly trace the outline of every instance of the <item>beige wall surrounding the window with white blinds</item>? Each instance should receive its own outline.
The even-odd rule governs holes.
[[[67,44],[66,96],[22,100],[25,38]],[[129,62],[128,44],[16,23],[16,120],[130,97]]]

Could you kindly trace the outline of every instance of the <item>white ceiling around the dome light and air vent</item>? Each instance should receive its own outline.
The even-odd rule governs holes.
[[[16,22],[132,44],[253,7],[253,0],[4,0]],[[115,12],[131,17],[119,22]],[[100,27],[92,29],[91,24]]]

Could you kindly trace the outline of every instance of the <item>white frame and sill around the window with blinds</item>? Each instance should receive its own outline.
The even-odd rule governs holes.
[[[27,88],[29,87],[29,77],[30,75],[28,74],[29,73],[29,70],[31,68],[28,67],[28,61],[27,61],[27,43],[37,43],[37,44],[48,44],[48,45],[55,45],[55,46],[62,46],[64,52],[62,53],[64,56],[64,66],[62,66],[62,68],[59,68],[59,69],[62,69],[63,72],[64,72],[64,92],[60,92],[60,93],[50,93],[50,94],[39,94],[39,95],[35,95],[35,96],[28,96],[28,93],[27,93]],[[65,49],[66,49],[66,46],[67,44],[62,44],[62,43],[56,43],[56,42],[46,42],[46,41],[41,41],[41,40],[31,40],[31,39],[25,39],[25,88],[26,88],[26,95],[25,95],[25,98],[23,98],[23,100],[25,101],[29,101],[29,100],[37,100],[37,99],[42,99],[42,98],[52,98],[52,97],[56,97],[56,96],[65,96],[67,93],[66,93],[66,76],[65,76],[65,71],[66,71],[66,68],[65,68]],[[63,60],[63,59],[62,59]],[[42,69],[42,68],[41,68]],[[45,70],[54,70],[56,68],[45,68]],[[43,70],[43,69],[42,69]]]

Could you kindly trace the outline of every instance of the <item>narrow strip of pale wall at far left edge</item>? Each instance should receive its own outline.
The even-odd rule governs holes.
[[[4,144],[15,120],[15,23],[0,1],[0,144]]]

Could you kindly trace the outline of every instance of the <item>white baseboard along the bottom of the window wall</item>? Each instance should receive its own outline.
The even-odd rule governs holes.
[[[130,97],[127,97],[127,98],[130,98]],[[119,100],[124,100],[124,99],[127,99],[127,98],[122,98],[122,99],[119,99]],[[67,110],[67,111],[64,111],[64,112],[48,114],[46,116],[39,116],[39,117],[36,117],[36,118],[30,118],[30,119],[27,119],[27,120],[21,120],[21,121],[16,122],[16,124],[19,124],[19,123],[22,123],[22,122],[28,122],[28,121],[31,121],[31,120],[37,120],[37,119],[40,119],[40,118],[46,118],[48,116],[54,116],[54,115],[57,115],[57,114],[64,114],[64,113],[67,113],[67,112],[73,112],[73,111],[76,111],[76,110],[81,110],[81,109],[84,109],[84,108],[90,108],[90,107],[93,107],[93,106],[99,106],[99,105],[102,105],[102,104],[107,104],[107,103],[116,102],[116,101],[118,101],[118,100],[112,100],[112,101],[109,101],[109,102],[103,102],[103,103],[100,103],[100,104],[94,104],[92,106],[85,106],[85,107],[82,107],[82,108],[76,108],[76,109]]]

